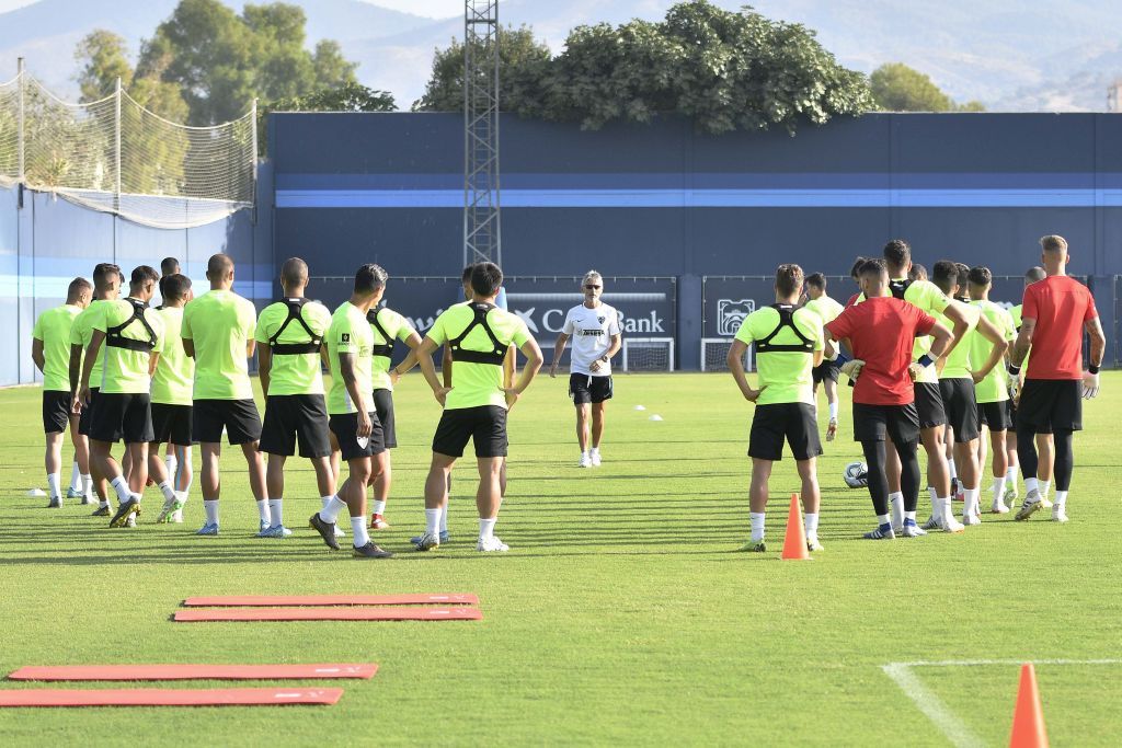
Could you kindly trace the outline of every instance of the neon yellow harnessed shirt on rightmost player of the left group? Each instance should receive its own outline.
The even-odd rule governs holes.
[[[463,334],[475,318],[471,304],[457,304],[444,311],[429,330],[426,338],[436,345],[454,340]],[[495,307],[487,312],[487,324],[503,345],[514,343],[518,348],[531,340],[526,323],[516,314]],[[490,351],[493,345],[482,325],[476,325],[463,340],[468,351]],[[475,363],[456,361],[452,364],[452,391],[444,401],[445,410],[460,408],[477,408],[486,405],[506,407],[506,395],[503,393],[503,367],[493,363]]]

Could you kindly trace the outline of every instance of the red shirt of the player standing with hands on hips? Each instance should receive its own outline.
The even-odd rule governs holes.
[[[912,344],[917,334],[926,335],[932,326],[935,317],[930,314],[891,296],[867,298],[828,323],[826,329],[830,334],[837,340],[848,338],[853,357],[865,362],[853,389],[853,401],[862,405],[914,401],[908,376]]]

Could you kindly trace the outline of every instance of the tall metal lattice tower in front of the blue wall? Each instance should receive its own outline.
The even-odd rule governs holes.
[[[463,13],[463,264],[502,265],[498,170],[498,0]]]

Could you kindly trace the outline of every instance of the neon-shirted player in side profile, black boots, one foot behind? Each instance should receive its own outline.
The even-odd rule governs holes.
[[[394,555],[375,545],[366,529],[366,487],[380,471],[381,461],[377,458],[386,451],[381,423],[370,398],[374,391],[374,330],[366,315],[381,299],[386,278],[386,271],[377,265],[360,267],[355,274],[350,301],[343,302],[331,315],[327,336],[331,364],[329,426],[350,474],[327,506],[309,518],[309,524],[329,548],[338,551],[335,520],[348,510],[357,558]]]

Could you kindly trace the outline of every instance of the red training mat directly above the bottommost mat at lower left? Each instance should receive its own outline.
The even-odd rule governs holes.
[[[43,665],[20,667],[12,681],[275,681],[284,678],[361,678],[378,666],[331,665]]]

